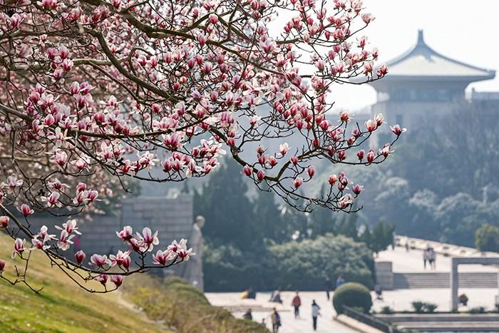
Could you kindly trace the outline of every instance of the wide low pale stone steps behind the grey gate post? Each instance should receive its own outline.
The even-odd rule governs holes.
[[[461,272],[460,288],[497,288],[498,274],[495,272]],[[393,273],[393,289],[450,288],[451,274],[448,272]]]

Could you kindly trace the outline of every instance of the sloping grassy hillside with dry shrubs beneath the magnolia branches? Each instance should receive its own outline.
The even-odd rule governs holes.
[[[10,260],[12,249],[12,240],[0,233],[6,277],[13,277],[14,263],[21,263]],[[43,287],[41,294],[0,280],[0,332],[268,332],[212,307],[202,292],[180,279],[134,275],[119,292],[90,294],[51,268],[39,251],[32,254],[28,277],[34,288]]]

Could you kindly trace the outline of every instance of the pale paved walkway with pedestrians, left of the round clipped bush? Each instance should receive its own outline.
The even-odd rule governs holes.
[[[265,319],[267,327],[271,329],[270,313],[272,308],[277,305],[277,311],[280,312],[282,318],[282,327],[279,333],[307,333],[314,332],[312,329],[312,299],[315,299],[321,307],[321,317],[317,322],[317,331],[320,333],[354,333],[354,329],[340,324],[333,320],[335,314],[331,300],[326,299],[325,292],[300,292],[302,298],[302,307],[300,308],[301,318],[294,319],[293,308],[290,305],[294,297],[294,292],[282,292],[281,297],[283,304],[268,302],[270,298],[269,292],[257,293],[257,299],[240,299],[240,293],[222,292],[222,293],[206,293],[206,297],[211,304],[218,307],[225,307],[232,312],[235,317],[242,317],[242,314],[251,308],[253,319],[257,322],[262,322]],[[332,294],[331,294],[332,297]]]

